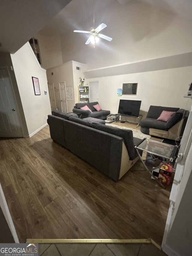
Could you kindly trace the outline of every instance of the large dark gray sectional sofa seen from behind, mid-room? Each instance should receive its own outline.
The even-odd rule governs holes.
[[[63,113],[48,115],[47,122],[52,140],[116,182],[139,160],[134,144],[141,140],[133,138],[131,130],[112,128]]]

